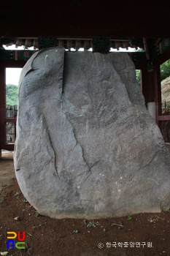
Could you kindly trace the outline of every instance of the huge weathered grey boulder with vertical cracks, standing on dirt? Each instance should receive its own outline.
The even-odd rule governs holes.
[[[126,53],[35,53],[20,77],[17,129],[15,173],[39,214],[115,217],[170,206],[170,154]]]

